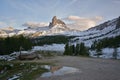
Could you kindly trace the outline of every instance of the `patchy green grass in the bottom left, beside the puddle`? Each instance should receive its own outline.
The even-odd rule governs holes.
[[[20,80],[34,80],[42,73],[48,70],[41,67],[41,65],[47,65],[47,63],[35,63],[35,62],[0,62],[0,70],[6,68],[3,73],[0,73],[0,80],[7,80],[13,75],[20,74]]]

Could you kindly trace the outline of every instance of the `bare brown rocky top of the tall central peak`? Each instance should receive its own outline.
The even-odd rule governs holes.
[[[52,18],[52,22],[50,22],[50,24],[49,24],[49,27],[52,28],[52,27],[54,27],[56,25],[61,25],[61,27],[66,27],[66,24],[62,20],[57,19],[57,17],[54,16]]]

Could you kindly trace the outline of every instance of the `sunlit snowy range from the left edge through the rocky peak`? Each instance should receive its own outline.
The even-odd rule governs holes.
[[[29,25],[34,26],[34,24],[29,24]],[[21,34],[29,37],[39,37],[45,35],[65,34],[66,32],[70,33],[71,31],[72,30],[70,30],[62,20],[57,19],[57,17],[54,16],[49,26],[27,27],[26,29],[23,30],[17,30],[12,27],[8,27],[8,28],[0,29],[0,37],[2,36],[7,37],[7,36],[21,35]]]

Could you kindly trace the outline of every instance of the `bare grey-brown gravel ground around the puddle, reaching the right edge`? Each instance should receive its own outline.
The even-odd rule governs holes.
[[[58,56],[41,62],[54,62],[60,66],[75,67],[79,73],[36,80],[120,80],[120,60]]]

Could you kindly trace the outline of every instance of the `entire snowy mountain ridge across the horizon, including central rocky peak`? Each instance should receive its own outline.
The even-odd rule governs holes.
[[[117,27],[116,27],[117,26]],[[115,18],[113,20],[109,20],[107,22],[104,22],[98,26],[89,28],[85,31],[77,31],[77,30],[71,30],[69,29],[65,22],[63,22],[60,19],[57,19],[56,16],[52,18],[52,22],[50,22],[49,26],[45,27],[35,27],[35,28],[26,28],[24,30],[13,30],[13,31],[6,31],[6,30],[0,30],[0,36],[10,36],[12,35],[20,35],[23,34],[25,36],[29,37],[40,37],[45,35],[77,35],[77,36],[83,36],[86,38],[86,36],[95,37],[95,36],[107,36],[109,34],[111,35],[119,35],[120,32],[120,17]],[[100,36],[100,37],[101,37]],[[83,39],[84,39],[83,38]],[[85,39],[87,40],[87,39]]]

